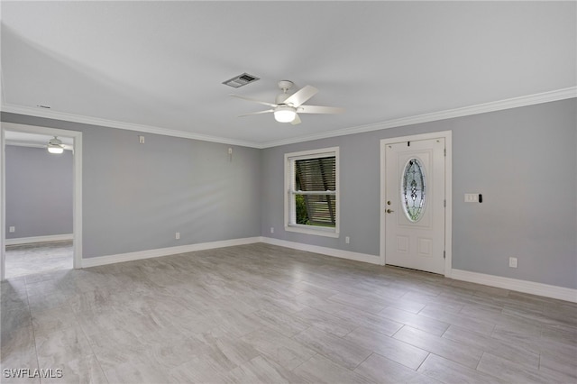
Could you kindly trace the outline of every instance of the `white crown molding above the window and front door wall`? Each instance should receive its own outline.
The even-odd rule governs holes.
[[[380,123],[371,123],[367,125],[359,125],[356,127],[344,128],[337,131],[316,133],[274,142],[265,142],[261,144],[261,148],[278,147],[280,145],[294,144],[296,142],[310,142],[313,140],[327,139],[330,137],[344,136],[353,133],[380,131],[383,129],[396,128],[417,123],[435,122],[437,120],[452,119],[454,117],[463,117],[472,114],[485,114],[488,112],[517,108],[519,106],[543,104],[573,97],[577,97],[577,87],[568,87],[535,95],[513,97],[479,105],[463,106],[461,108],[448,109],[445,111],[433,112],[431,114],[418,114],[415,116],[401,117],[399,119],[388,120]]]

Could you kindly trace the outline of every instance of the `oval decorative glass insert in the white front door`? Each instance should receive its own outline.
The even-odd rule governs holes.
[[[425,168],[418,159],[408,160],[401,179],[400,195],[408,220],[419,221],[425,212],[426,178]]]

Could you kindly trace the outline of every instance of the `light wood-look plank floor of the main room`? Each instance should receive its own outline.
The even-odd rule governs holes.
[[[41,382],[577,382],[577,305],[267,244],[2,283]]]

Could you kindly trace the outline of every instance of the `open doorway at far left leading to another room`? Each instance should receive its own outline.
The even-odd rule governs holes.
[[[1,140],[1,279],[80,268],[82,133],[2,123]]]

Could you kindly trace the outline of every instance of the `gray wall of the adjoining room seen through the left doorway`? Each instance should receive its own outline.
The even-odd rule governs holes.
[[[6,239],[72,233],[72,152],[8,145],[5,160]]]

